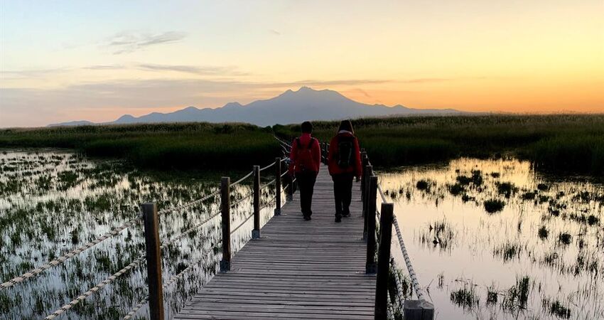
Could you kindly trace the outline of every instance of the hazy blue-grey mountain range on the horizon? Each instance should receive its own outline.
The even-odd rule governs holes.
[[[175,112],[153,112],[141,117],[125,114],[113,122],[99,124],[134,124],[166,122],[247,122],[259,126],[291,124],[305,120],[337,120],[360,117],[385,117],[390,115],[462,114],[453,109],[413,109],[402,105],[367,105],[351,100],[333,90],[313,90],[301,87],[268,100],[257,100],[247,105],[230,102],[215,109],[186,107]],[[89,121],[72,121],[49,126],[74,126],[97,124]]]

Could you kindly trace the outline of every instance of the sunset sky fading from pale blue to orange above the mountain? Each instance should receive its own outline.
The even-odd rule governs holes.
[[[604,1],[0,1],[0,127],[365,103],[604,112]]]

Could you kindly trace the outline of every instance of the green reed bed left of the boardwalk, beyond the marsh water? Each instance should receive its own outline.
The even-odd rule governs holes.
[[[59,147],[146,169],[247,169],[280,155],[270,128],[251,124],[132,124],[0,130],[0,147]]]

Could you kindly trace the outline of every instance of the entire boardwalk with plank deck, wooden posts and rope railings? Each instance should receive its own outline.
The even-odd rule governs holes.
[[[139,303],[134,304],[131,311],[124,315],[124,320],[133,319],[141,310],[146,310],[151,320],[164,320],[164,287],[182,281],[187,272],[192,272],[193,267],[199,265],[204,258],[190,263],[188,267],[171,274],[170,279],[163,281],[162,250],[195,233],[220,215],[220,270],[223,272],[210,280],[177,314],[176,319],[433,320],[434,306],[428,301],[429,295],[420,286],[411,264],[401,228],[394,215],[394,204],[388,202],[385,196],[387,193],[380,188],[367,153],[362,152],[362,183],[355,183],[352,189],[351,217],[343,218],[341,223],[334,222],[333,184],[327,168],[323,166],[313,197],[313,219],[305,221],[299,210],[297,195],[293,194],[294,181],[286,178],[286,173],[282,173],[291,145],[275,138],[281,144],[284,158],[276,158],[274,163],[262,168],[254,166],[252,172],[233,183],[230,183],[230,178],[223,177],[218,190],[188,203],[162,210],[157,210],[156,203],[141,203],[142,212],[130,220],[28,272],[7,279],[0,283],[0,292],[11,290],[45,270],[116,237],[126,229],[141,228],[142,224],[145,252],[140,252],[141,255],[129,265],[125,265],[121,270],[48,314],[45,320],[56,319],[70,312],[74,306],[84,302],[100,289],[120,277],[124,279],[125,274],[144,264],[148,291],[140,298]],[[321,144],[321,148],[323,154],[328,154],[328,144]],[[323,157],[323,161],[325,160]],[[275,178],[261,187],[261,172],[271,168],[275,170]],[[250,177],[253,178],[252,192],[230,203],[230,189]],[[261,193],[266,192],[266,188],[273,183],[274,197],[261,204]],[[285,206],[281,206],[282,191],[293,197]],[[211,213],[205,220],[178,235],[160,238],[161,216],[205,206],[205,201],[212,201],[219,196],[220,212]],[[253,198],[252,215],[232,228],[230,208],[250,197]],[[382,199],[379,210],[378,198]],[[269,206],[274,206],[276,215],[264,228],[260,228],[260,210]],[[244,245],[232,259],[231,235],[252,217],[253,240]],[[404,257],[404,265],[409,271],[409,282],[406,282],[406,285],[407,288],[412,288],[413,292],[404,288],[406,280],[400,277],[399,272],[390,272],[391,266],[396,268],[394,260],[391,260],[393,226]],[[411,299],[413,293],[417,299]]]

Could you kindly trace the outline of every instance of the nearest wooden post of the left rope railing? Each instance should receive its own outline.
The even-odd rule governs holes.
[[[145,220],[149,314],[152,320],[163,320],[163,284],[161,282],[161,248],[157,206],[155,203],[144,203],[142,208]]]

